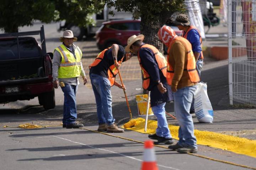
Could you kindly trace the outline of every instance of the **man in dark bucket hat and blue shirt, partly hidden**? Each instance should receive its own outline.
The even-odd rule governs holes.
[[[192,45],[192,51],[196,60],[196,69],[200,77],[203,67],[202,37],[199,29],[192,26],[188,16],[180,14],[172,22],[179,30],[182,30],[182,37],[186,38]],[[191,104],[190,113],[194,113],[194,99]]]

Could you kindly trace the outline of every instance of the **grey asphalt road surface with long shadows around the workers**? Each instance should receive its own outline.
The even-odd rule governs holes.
[[[40,23],[32,28],[24,27],[20,31],[38,30]],[[60,42],[58,38],[57,24],[46,24],[47,51],[52,52]],[[76,42],[82,49],[83,65],[88,73],[87,66],[94,60],[99,52],[95,46],[95,40]],[[127,95],[133,116],[137,114],[135,95],[141,94],[140,69],[136,57],[122,64],[124,84],[127,87]],[[195,124],[197,129],[221,131],[227,126],[224,120],[234,117],[233,112],[228,112],[228,66],[227,61],[213,61],[208,58],[203,67],[202,81],[208,83],[208,95],[213,108],[217,113],[216,124]],[[123,91],[117,87],[112,88],[113,115],[118,124],[125,123],[129,117]],[[140,169],[143,160],[143,144],[111,137],[81,129],[63,129],[59,127],[44,129],[18,129],[3,128],[4,125],[18,126],[24,123],[38,125],[58,125],[62,121],[63,93],[60,89],[55,90],[56,108],[45,111],[39,106],[37,98],[30,101],[17,101],[0,106],[0,170],[26,169],[26,170],[64,170],[64,169],[113,169],[128,170]],[[97,129],[96,104],[90,82],[84,86],[79,85],[77,94],[78,121],[84,123],[86,128]],[[173,112],[172,104],[166,106],[168,112]],[[223,110],[227,110],[223,118]],[[238,113],[241,114],[241,113]],[[242,112],[244,117],[251,116],[250,120],[242,121],[240,130],[255,129],[250,123],[255,124],[255,114]],[[246,116],[245,116],[246,115]],[[218,117],[219,116],[219,117]],[[237,120],[241,121],[237,116]],[[251,122],[254,121],[254,122]],[[173,120],[170,120],[171,123]],[[230,129],[235,129],[238,124],[230,124]],[[228,130],[226,128],[225,130]],[[237,130],[237,129],[236,129]],[[119,135],[133,140],[148,140],[146,134],[126,131]],[[165,148],[154,147],[159,169],[244,169],[240,166],[224,164],[213,160],[196,157],[188,154],[178,154]],[[255,167],[255,158],[239,155],[221,149],[199,146],[199,155],[220,159]]]

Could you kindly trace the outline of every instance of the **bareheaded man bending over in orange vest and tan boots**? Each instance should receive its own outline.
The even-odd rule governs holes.
[[[115,85],[125,90],[121,84],[115,81],[120,64],[128,61],[132,53],[126,53],[124,47],[113,44],[111,47],[101,51],[90,64],[90,79],[97,105],[98,131],[122,133],[118,128],[112,115],[112,96],[110,88]]]

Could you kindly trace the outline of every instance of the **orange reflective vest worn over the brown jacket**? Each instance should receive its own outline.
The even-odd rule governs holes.
[[[192,52],[192,46],[190,44],[190,42],[185,39],[182,38],[180,36],[178,36],[177,38],[175,38],[174,40],[172,40],[169,49],[168,49],[168,55],[167,55],[167,62],[168,62],[168,66],[167,66],[167,73],[166,73],[166,80],[167,83],[169,85],[172,84],[172,79],[174,77],[174,69],[172,68],[171,64],[169,63],[169,51],[172,48],[172,45],[174,44],[174,42],[176,41],[180,41],[182,42],[182,44],[185,46],[186,48],[186,53],[187,53],[187,69],[184,69],[188,72],[188,75],[190,77],[190,81],[193,83],[197,83],[198,81],[200,81],[197,70],[196,70],[196,60],[194,58],[194,53]]]

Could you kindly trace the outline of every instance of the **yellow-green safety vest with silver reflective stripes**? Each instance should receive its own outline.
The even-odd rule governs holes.
[[[70,52],[65,45],[58,46],[57,50],[62,56],[60,67],[58,69],[58,78],[73,78],[79,77],[81,74],[81,57],[82,52],[78,46],[75,49],[75,56]]]

